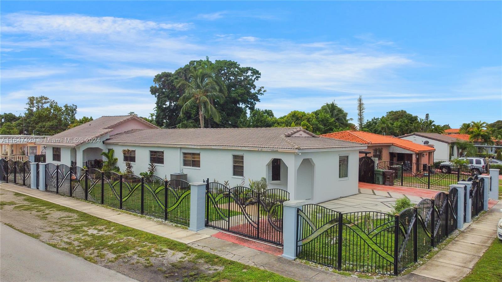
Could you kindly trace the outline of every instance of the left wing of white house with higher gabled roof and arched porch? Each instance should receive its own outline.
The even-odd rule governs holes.
[[[137,115],[102,116],[45,138],[37,145],[46,147],[48,163],[91,168],[103,160],[108,148],[103,140],[114,134],[138,128],[158,128]]]

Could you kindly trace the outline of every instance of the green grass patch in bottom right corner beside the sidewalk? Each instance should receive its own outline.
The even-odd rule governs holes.
[[[502,281],[502,242],[495,239],[462,282]]]

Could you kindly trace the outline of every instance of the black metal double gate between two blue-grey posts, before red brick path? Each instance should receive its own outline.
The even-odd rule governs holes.
[[[206,226],[249,238],[283,244],[283,203],[289,192],[268,189],[263,193],[247,187],[229,188],[206,182]]]

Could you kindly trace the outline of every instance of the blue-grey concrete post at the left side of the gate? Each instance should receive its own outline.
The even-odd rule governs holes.
[[[190,183],[190,226],[188,230],[199,231],[205,228],[206,184]]]

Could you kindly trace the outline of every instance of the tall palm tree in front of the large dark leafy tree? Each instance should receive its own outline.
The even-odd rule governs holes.
[[[184,93],[178,100],[180,104],[183,104],[181,114],[197,106],[199,109],[200,128],[204,128],[204,116],[213,118],[216,122],[219,122],[220,114],[212,101],[225,97],[220,93],[221,87],[224,86],[221,86],[211,71],[205,67],[191,69],[188,80],[183,79],[176,84],[176,87],[184,88]]]

